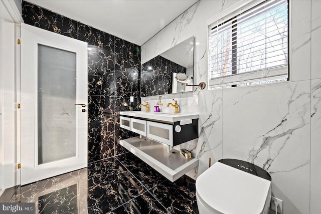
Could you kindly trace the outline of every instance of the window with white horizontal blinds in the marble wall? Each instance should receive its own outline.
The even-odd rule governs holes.
[[[241,10],[209,26],[210,87],[288,80],[287,0]]]

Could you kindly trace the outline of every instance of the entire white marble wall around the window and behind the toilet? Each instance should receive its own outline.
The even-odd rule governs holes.
[[[194,35],[195,83],[207,83],[206,21],[237,2],[201,0],[197,7],[193,6],[195,8],[143,45],[142,48],[148,46],[150,49],[146,55],[152,56],[142,56],[142,59],[147,61]],[[172,98],[178,99],[181,112],[200,114],[199,139],[178,146],[193,150],[193,155],[200,159],[199,168],[190,171],[189,176],[196,178],[207,169],[209,157],[212,164],[222,157],[254,162],[272,175],[272,194],[284,201],[283,213],[309,213],[310,203],[310,213],[319,213],[321,169],[318,164],[321,158],[318,151],[321,148],[318,148],[317,140],[321,139],[321,125],[316,109],[321,108],[317,97],[321,80],[312,81],[311,87],[310,79],[321,78],[318,53],[321,48],[321,1],[293,0],[290,4],[290,68],[294,82],[197,90],[164,95],[163,100],[166,105]],[[156,103],[158,96],[142,98],[142,101],[144,99]]]

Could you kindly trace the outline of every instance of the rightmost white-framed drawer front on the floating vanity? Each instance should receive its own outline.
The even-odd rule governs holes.
[[[147,137],[173,146],[173,125],[147,121]]]

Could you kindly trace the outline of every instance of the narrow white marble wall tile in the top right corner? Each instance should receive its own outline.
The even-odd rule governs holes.
[[[311,78],[321,78],[321,1],[311,2]]]

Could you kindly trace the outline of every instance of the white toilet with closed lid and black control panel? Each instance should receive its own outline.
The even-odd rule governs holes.
[[[196,179],[200,214],[267,214],[271,176],[252,163],[222,159]]]

